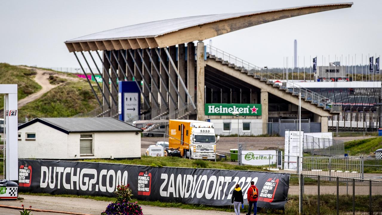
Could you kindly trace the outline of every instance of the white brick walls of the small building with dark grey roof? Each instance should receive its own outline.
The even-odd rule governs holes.
[[[141,133],[98,132],[65,134],[40,122],[24,127],[18,141],[19,158],[87,159],[141,157]],[[25,133],[36,133],[36,140],[25,140]],[[93,156],[80,156],[81,134],[93,134]]]

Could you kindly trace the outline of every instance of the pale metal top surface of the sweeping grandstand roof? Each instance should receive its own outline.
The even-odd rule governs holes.
[[[168,20],[152,21],[148,23],[134,24],[121,28],[110,29],[107,31],[101,31],[98,33],[88,34],[86,36],[70,39],[66,42],[84,42],[84,41],[102,41],[102,40],[115,40],[115,39],[131,39],[131,38],[143,38],[143,37],[156,37],[163,34],[168,34],[181,29],[198,26],[201,24],[212,23],[221,20],[227,20],[231,18],[237,18],[241,16],[256,15],[260,13],[269,13],[282,10],[293,10],[308,7],[323,7],[323,6],[337,6],[337,5],[352,5],[353,3],[333,3],[333,4],[321,4],[321,5],[306,5],[300,7],[281,8],[274,10],[262,10],[262,11],[249,11],[242,13],[223,13],[214,15],[200,15],[200,16],[188,16],[182,18],[173,18]]]

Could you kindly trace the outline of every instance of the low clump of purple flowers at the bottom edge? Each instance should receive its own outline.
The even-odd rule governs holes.
[[[137,202],[110,203],[101,215],[143,215]]]

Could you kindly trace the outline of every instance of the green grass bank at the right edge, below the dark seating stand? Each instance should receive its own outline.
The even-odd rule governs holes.
[[[345,142],[345,152],[349,151],[349,155],[368,155],[379,148],[382,148],[382,137]]]

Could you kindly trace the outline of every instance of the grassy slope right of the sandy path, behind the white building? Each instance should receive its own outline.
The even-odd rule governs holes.
[[[19,117],[71,117],[98,106],[86,81],[69,81],[21,107]]]

